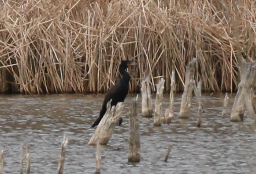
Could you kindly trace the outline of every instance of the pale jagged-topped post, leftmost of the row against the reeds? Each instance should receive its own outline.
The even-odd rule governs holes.
[[[145,74],[141,82],[141,117],[153,117],[151,88],[149,86],[149,78]]]

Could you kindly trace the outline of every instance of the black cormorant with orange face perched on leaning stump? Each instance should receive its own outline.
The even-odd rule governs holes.
[[[96,121],[94,121],[92,128],[95,127],[100,123],[100,120],[104,116],[104,114],[107,111],[107,103],[112,99],[111,101],[111,107],[115,106],[119,102],[123,102],[126,98],[126,95],[129,91],[129,82],[130,82],[130,75],[126,71],[127,67],[130,67],[131,65],[136,65],[137,63],[131,62],[130,60],[122,60],[120,66],[119,66],[119,72],[122,75],[122,78],[118,79],[117,82],[115,82],[115,85],[113,85],[107,95],[105,96],[105,99],[103,101],[101,110],[100,110],[100,116],[97,118]],[[119,125],[122,123],[122,118],[119,120]]]

